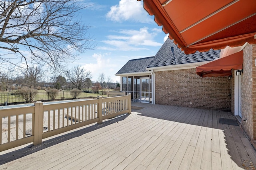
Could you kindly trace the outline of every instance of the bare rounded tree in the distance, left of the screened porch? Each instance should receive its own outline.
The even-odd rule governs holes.
[[[86,71],[82,66],[74,66],[66,72],[66,77],[79,90],[86,86],[86,79],[92,78],[92,72]]]

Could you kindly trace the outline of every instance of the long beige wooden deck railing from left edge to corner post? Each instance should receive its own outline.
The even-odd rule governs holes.
[[[131,94],[110,98],[0,109],[0,151],[42,139],[91,123],[102,123],[131,113]]]

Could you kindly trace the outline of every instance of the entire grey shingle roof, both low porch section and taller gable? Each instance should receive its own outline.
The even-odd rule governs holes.
[[[146,68],[174,65],[174,57],[171,50],[174,47],[174,57],[176,64],[197,63],[202,61],[213,61],[220,57],[220,50],[210,49],[207,52],[196,52],[186,55],[173,43],[167,39],[154,57],[129,60],[116,74],[126,74],[132,72],[145,72]]]

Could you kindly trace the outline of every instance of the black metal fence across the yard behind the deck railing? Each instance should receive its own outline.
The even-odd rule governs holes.
[[[0,106],[14,105],[31,103],[34,101],[54,101],[54,100],[70,100],[74,99],[74,92],[72,91],[60,91],[56,95],[52,95],[54,92],[37,92],[37,93],[0,93]],[[54,96],[54,97],[52,97]],[[83,90],[78,95],[76,99],[81,98],[96,98],[97,96],[106,97],[106,91],[103,90]]]

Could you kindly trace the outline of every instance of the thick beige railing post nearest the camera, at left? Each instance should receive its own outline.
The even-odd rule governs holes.
[[[44,110],[43,102],[36,101],[35,106],[35,118],[34,118],[34,142],[33,145],[38,145],[42,143],[42,133],[43,133],[43,119],[44,119]]]

